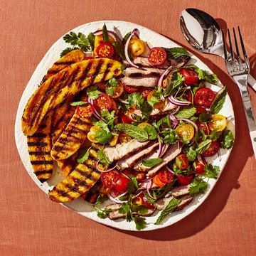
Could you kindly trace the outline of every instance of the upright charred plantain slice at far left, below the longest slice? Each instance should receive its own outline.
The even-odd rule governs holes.
[[[53,174],[53,159],[50,156],[51,138],[50,124],[52,114],[43,119],[40,127],[32,136],[28,136],[28,154],[33,171],[39,181],[47,181]]]

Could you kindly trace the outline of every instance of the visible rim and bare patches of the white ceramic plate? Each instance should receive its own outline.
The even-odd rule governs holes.
[[[97,28],[102,28],[104,22],[106,23],[106,26],[108,29],[112,30],[114,27],[119,29],[122,36],[124,36],[129,31],[132,31],[134,28],[138,28],[140,31],[140,38],[142,38],[144,41],[148,41],[151,43],[152,46],[163,46],[166,48],[176,47],[178,46],[176,43],[170,41],[168,38],[165,38],[164,36],[159,35],[159,33],[156,33],[154,31],[149,30],[148,28],[144,28],[143,26],[139,26],[135,23],[129,23],[126,21],[96,21],[92,23],[87,23],[82,26],[79,26],[78,28],[73,29],[72,31],[78,33],[82,32],[85,35],[87,35],[90,32],[96,31]],[[39,63],[38,67],[36,68],[35,72],[33,73],[31,79],[28,82],[28,85],[26,86],[23,95],[21,97],[21,101],[18,105],[18,112],[16,115],[16,124],[15,124],[15,139],[16,139],[16,146],[18,148],[18,153],[21,156],[21,160],[23,162],[23,165],[25,166],[26,170],[28,171],[28,174],[33,178],[33,181],[40,187],[45,193],[48,193],[48,190],[50,188],[53,188],[55,184],[60,182],[63,179],[62,174],[60,173],[60,170],[55,166],[53,177],[50,178],[50,181],[47,183],[41,184],[40,181],[36,178],[36,176],[33,174],[33,169],[29,161],[29,155],[28,155],[28,147],[26,143],[26,137],[21,132],[21,116],[23,114],[23,109],[26,106],[26,103],[28,102],[28,99],[31,97],[33,92],[36,90],[37,85],[40,84],[43,75],[46,74],[48,68],[53,65],[55,60],[58,60],[60,57],[60,53],[63,49],[68,47],[68,45],[63,41],[63,38],[60,38],[57,42],[53,44],[53,46],[48,50],[46,55],[43,57],[41,62]],[[191,57],[193,58],[193,63],[196,63],[196,65],[199,68],[202,68],[204,70],[208,70],[211,72],[211,70],[196,56],[191,54]],[[217,74],[218,75],[218,74]],[[220,90],[220,87],[212,86],[211,87],[214,91]],[[231,116],[234,120],[234,112],[232,103],[230,101],[230,97],[227,95],[223,109],[220,111],[221,114],[224,114],[226,117]],[[233,129],[233,132],[235,133],[235,125],[233,122],[229,122],[229,128]],[[218,161],[218,158],[215,157],[214,159],[208,159],[209,161],[213,161],[213,164],[220,166],[220,170],[223,171],[224,166],[226,162],[228,161],[228,157],[230,156],[230,150],[221,150],[222,154],[222,160]],[[172,225],[176,223],[178,220],[181,220],[185,218],[188,214],[192,213],[193,210],[196,210],[198,206],[203,203],[203,201],[206,200],[208,197],[210,191],[212,191],[213,187],[215,186],[215,183],[217,180],[210,179],[208,190],[205,194],[201,196],[197,196],[194,198],[193,202],[187,206],[186,208],[183,208],[183,210],[178,211],[176,213],[172,213],[169,218],[166,218],[166,220],[161,225],[154,225],[153,223],[156,221],[156,218],[158,215],[154,215],[151,217],[146,218],[146,222],[149,223],[147,225],[147,228],[144,230],[155,230],[157,228],[164,228],[166,226]],[[42,195],[43,196],[43,195]],[[119,228],[122,230],[136,230],[134,223],[127,223],[126,220],[110,220],[108,218],[106,219],[100,219],[97,217],[97,213],[93,210],[90,203],[87,203],[85,201],[82,201],[80,198],[78,200],[73,201],[72,203],[65,203],[63,206],[66,206],[75,212],[79,213],[80,215],[83,215],[87,218],[90,218],[92,220],[95,220],[99,223],[110,225],[114,228]],[[58,208],[56,208],[58,210]]]

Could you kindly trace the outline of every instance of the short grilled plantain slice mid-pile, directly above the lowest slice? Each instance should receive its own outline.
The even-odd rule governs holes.
[[[82,142],[87,138],[87,132],[89,132],[91,126],[90,120],[80,117],[77,110],[75,110],[68,126],[60,134],[50,151],[53,159],[68,159],[78,151]]]

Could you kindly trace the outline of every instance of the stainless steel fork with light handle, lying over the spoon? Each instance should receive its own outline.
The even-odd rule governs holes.
[[[223,31],[222,31],[223,33]],[[247,53],[245,50],[245,45],[242,40],[242,35],[240,32],[240,28],[238,26],[238,33],[239,33],[239,38],[240,38],[240,44],[242,48],[242,54],[244,61],[242,61],[239,47],[238,47],[238,40],[235,34],[235,28],[233,28],[233,35],[234,35],[234,40],[235,40],[235,48],[236,48],[236,53],[237,53],[237,58],[235,58],[234,51],[233,51],[233,46],[232,46],[232,41],[231,41],[231,36],[230,36],[230,31],[228,29],[228,41],[230,45],[230,54],[228,54],[227,48],[226,48],[226,41],[225,41],[225,36],[223,33],[223,41],[224,41],[224,54],[225,54],[225,65],[228,70],[228,73],[230,76],[235,80],[236,84],[239,87],[240,94],[242,97],[242,103],[245,109],[245,117],[247,119],[247,124],[250,132],[250,138],[252,142],[252,149],[255,154],[256,158],[256,122],[255,122],[255,115],[252,110],[252,105],[250,102],[250,95],[247,90],[247,78],[248,74],[250,72],[250,63],[247,58]]]

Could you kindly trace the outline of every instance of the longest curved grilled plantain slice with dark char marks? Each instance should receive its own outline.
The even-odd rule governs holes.
[[[122,64],[108,58],[82,60],[50,76],[28,100],[23,112],[23,134],[33,135],[43,117],[61,102],[95,82],[109,80],[122,73]]]

